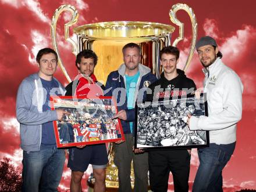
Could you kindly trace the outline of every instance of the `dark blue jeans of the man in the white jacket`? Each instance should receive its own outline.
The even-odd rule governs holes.
[[[223,191],[222,170],[233,154],[236,142],[230,144],[210,143],[207,148],[198,149],[200,165],[195,175],[193,192]]]

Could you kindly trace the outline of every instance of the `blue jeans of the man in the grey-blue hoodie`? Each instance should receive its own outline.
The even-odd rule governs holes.
[[[64,162],[65,151],[55,145],[23,151],[22,191],[57,191]]]

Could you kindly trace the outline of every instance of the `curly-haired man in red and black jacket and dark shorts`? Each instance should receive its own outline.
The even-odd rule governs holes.
[[[102,96],[104,86],[100,84],[94,73],[98,57],[92,50],[83,50],[76,57],[76,66],[80,74],[66,86],[66,96],[85,96],[95,98]],[[81,191],[81,179],[88,165],[93,166],[95,191],[105,191],[105,168],[108,155],[105,144],[73,147],[69,151],[67,166],[72,170],[70,191]]]

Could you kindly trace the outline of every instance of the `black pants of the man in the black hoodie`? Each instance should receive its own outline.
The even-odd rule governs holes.
[[[148,164],[152,191],[168,190],[170,171],[173,175],[175,192],[189,191],[190,154],[187,150],[150,151]]]

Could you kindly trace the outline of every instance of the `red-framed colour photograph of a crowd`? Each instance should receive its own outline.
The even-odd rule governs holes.
[[[57,147],[117,142],[125,140],[119,119],[112,119],[118,112],[112,97],[95,99],[72,96],[51,96],[51,109],[62,109],[62,121],[54,121]]]

